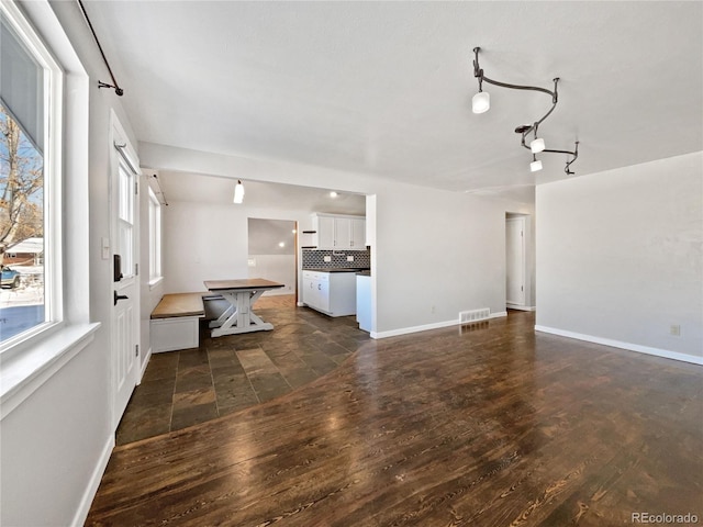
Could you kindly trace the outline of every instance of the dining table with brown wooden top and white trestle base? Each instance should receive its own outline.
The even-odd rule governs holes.
[[[283,283],[264,280],[263,278],[243,278],[236,280],[205,280],[205,288],[213,293],[221,294],[228,303],[228,307],[216,321],[210,323],[213,337],[236,335],[249,332],[269,332],[274,324],[264,322],[252,306],[266,291],[280,289]]]

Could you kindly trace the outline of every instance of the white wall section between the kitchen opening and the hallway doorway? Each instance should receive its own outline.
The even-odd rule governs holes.
[[[460,311],[505,313],[505,213],[492,198],[398,187],[377,192],[377,321],[386,336],[454,323]]]

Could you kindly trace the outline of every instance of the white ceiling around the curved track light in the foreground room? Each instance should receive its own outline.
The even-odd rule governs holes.
[[[87,1],[140,141],[331,167],[455,191],[532,173],[516,125],[579,175],[700,150],[703,3]],[[105,77],[108,74],[105,71]],[[109,80],[105,78],[104,80]]]

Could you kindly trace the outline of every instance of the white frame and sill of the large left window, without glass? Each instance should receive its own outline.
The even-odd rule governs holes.
[[[94,338],[90,323],[89,77],[47,1],[0,9],[44,67],[44,298],[46,322],[0,345],[0,419]],[[65,93],[70,93],[66,97]],[[64,179],[64,173],[70,173]],[[62,200],[63,197],[63,200]]]

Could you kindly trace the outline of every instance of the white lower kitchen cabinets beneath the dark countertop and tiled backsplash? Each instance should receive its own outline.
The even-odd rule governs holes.
[[[303,270],[303,303],[330,316],[356,313],[356,273]]]

